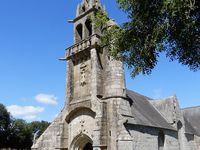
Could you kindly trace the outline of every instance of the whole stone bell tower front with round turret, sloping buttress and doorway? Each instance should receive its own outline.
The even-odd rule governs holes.
[[[117,150],[118,139],[124,136],[119,115],[120,104],[126,103],[123,64],[100,45],[101,30],[91,19],[98,10],[102,10],[100,0],[83,0],[77,6],[76,17],[70,21],[74,43],[64,58],[65,106],[32,149]]]

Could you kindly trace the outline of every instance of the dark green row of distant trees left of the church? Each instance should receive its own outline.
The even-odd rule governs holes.
[[[46,121],[27,123],[22,119],[14,119],[0,104],[0,148],[31,149],[34,133],[39,131],[39,137],[49,124]]]

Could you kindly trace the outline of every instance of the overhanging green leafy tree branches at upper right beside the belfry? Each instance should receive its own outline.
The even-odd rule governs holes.
[[[150,74],[161,52],[193,71],[200,69],[200,1],[117,2],[128,21],[121,27],[106,26],[109,31],[103,33],[103,44],[109,47],[110,55],[132,69],[132,76]],[[105,13],[102,14],[95,18],[97,26],[105,25]]]

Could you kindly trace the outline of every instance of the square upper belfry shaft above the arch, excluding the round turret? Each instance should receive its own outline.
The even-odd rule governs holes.
[[[83,0],[77,6],[74,23],[74,45],[66,49],[68,61],[67,103],[75,104],[90,100],[96,87],[92,82],[97,78],[96,58],[98,57],[98,29],[92,24],[91,18],[101,9],[99,0]],[[96,91],[97,92],[97,91]]]

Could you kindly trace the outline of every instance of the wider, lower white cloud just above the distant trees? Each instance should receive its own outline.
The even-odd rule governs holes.
[[[36,120],[37,115],[44,111],[43,107],[34,106],[18,106],[11,105],[7,106],[8,112],[11,113],[13,117],[22,118],[25,120]]]

